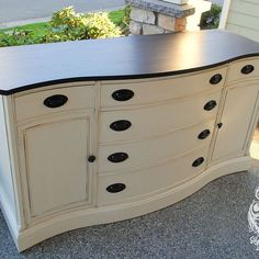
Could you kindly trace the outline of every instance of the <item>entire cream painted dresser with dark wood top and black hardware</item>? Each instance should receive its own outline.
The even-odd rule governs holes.
[[[221,31],[0,49],[0,201],[19,250],[250,167],[259,44]]]

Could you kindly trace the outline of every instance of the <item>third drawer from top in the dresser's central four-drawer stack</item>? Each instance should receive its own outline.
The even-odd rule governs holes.
[[[210,144],[214,121],[209,121],[196,126],[172,132],[160,137],[137,143],[100,146],[99,172],[114,172],[139,166],[148,166],[170,159],[192,149]],[[111,162],[108,158],[111,154],[127,154],[127,159],[121,162]]]

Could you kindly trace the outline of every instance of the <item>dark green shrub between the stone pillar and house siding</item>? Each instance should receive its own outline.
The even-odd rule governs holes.
[[[212,4],[210,11],[204,12],[201,16],[200,27],[204,29],[217,29],[219,25],[222,7]]]

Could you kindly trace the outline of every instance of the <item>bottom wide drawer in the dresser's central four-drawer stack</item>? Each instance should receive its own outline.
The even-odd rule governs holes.
[[[98,204],[137,201],[166,191],[201,173],[206,165],[207,146],[192,154],[142,171],[99,176]],[[200,166],[193,167],[198,158]],[[111,192],[110,189],[115,190]],[[145,196],[144,196],[145,195]]]

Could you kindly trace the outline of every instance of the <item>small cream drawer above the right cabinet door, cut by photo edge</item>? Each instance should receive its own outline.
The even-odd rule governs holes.
[[[259,57],[243,59],[229,65],[227,81],[259,77]]]

